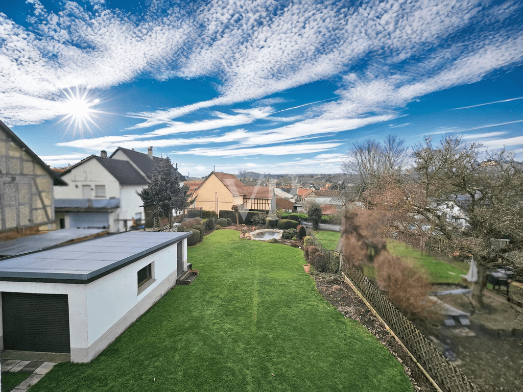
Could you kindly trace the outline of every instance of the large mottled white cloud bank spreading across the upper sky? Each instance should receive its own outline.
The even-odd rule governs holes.
[[[134,15],[106,9],[102,1],[93,2],[92,13],[66,2],[59,14],[34,3],[30,28],[0,15],[0,117],[10,124],[59,116],[61,90],[76,85],[108,89],[140,77],[218,80],[212,99],[133,113],[145,120],[134,127],[140,129],[347,70],[354,75],[342,98],[323,109],[354,118],[472,83],[520,64],[522,56],[520,29],[505,26],[520,12],[518,3],[373,0],[319,7],[312,0],[215,0],[187,9],[152,2]]]

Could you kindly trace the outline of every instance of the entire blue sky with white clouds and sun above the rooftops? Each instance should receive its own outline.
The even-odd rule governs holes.
[[[340,172],[390,133],[523,160],[518,1],[12,3],[0,118],[52,166],[153,146],[191,176]]]

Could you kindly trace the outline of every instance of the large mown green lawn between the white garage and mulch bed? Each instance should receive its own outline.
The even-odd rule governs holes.
[[[194,283],[93,362],[58,364],[30,392],[412,391],[394,356],[317,292],[302,250],[239,234],[189,248]]]

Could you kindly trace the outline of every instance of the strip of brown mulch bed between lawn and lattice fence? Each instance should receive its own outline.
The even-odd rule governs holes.
[[[405,374],[411,379],[416,391],[436,391],[427,377],[417,367],[407,352],[401,347],[392,335],[385,329],[351,287],[343,281],[341,275],[327,273],[311,273],[317,290],[323,297],[343,313],[346,317],[359,321],[372,335],[385,345],[392,355],[403,365]]]

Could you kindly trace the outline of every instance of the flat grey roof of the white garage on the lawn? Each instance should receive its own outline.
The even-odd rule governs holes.
[[[0,260],[0,281],[86,284],[191,233],[125,232]]]

